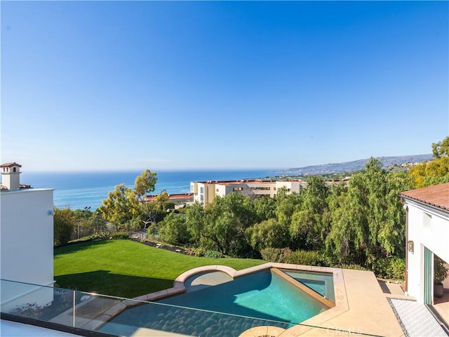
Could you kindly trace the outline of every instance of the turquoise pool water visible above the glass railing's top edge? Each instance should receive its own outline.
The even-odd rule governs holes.
[[[290,323],[302,322],[328,309],[271,270],[158,302]]]

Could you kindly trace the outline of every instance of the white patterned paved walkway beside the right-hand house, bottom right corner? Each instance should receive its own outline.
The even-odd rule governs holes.
[[[424,304],[398,298],[389,298],[389,303],[406,337],[448,336]]]

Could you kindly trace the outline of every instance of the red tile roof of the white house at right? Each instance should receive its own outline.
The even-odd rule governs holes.
[[[402,192],[401,197],[449,211],[449,183]]]

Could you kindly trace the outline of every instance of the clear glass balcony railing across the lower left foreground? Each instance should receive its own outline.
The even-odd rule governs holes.
[[[127,308],[139,310],[128,311]],[[1,279],[1,313],[116,336],[239,336],[255,326],[293,324]],[[146,329],[152,331],[146,331]],[[145,333],[148,332],[148,333]],[[150,333],[152,332],[152,333]]]

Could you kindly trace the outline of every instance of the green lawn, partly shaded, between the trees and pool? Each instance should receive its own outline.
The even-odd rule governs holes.
[[[194,267],[227,265],[241,270],[264,261],[197,258],[129,240],[110,240],[57,248],[54,263],[61,288],[133,298],[171,288],[178,275]]]

